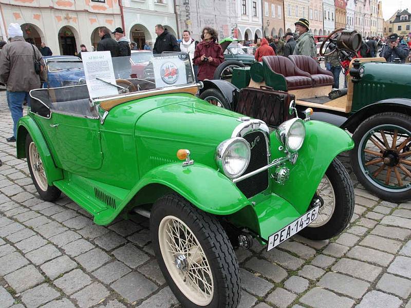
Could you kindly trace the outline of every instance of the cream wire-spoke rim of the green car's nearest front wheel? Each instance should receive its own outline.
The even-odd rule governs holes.
[[[164,263],[180,291],[199,306],[214,296],[210,263],[192,230],[174,216],[164,217],[158,228]]]

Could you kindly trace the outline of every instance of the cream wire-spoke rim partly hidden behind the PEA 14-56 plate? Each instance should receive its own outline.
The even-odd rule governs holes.
[[[320,185],[317,188],[317,196],[322,198],[323,205],[319,209],[317,218],[310,224],[312,228],[325,225],[334,214],[335,192],[330,179],[326,175],[321,179]]]

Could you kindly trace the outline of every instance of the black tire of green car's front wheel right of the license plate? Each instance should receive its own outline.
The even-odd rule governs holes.
[[[301,230],[300,235],[311,240],[326,240],[337,236],[347,227],[354,213],[354,189],[343,164],[338,159],[334,159],[325,175],[334,192],[334,210],[324,225],[313,227],[314,221]],[[324,206],[326,205],[324,204]],[[321,212],[322,209],[320,208],[319,216]]]

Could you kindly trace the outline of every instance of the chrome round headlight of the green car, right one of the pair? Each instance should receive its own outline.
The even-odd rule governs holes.
[[[305,125],[301,119],[291,119],[277,129],[277,138],[289,152],[298,151],[304,143]]]

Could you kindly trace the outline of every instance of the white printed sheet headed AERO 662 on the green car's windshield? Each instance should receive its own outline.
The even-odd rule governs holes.
[[[116,84],[113,62],[111,61],[109,51],[82,52],[81,57],[90,98],[116,95],[119,93],[117,87],[106,83]]]

